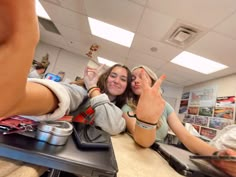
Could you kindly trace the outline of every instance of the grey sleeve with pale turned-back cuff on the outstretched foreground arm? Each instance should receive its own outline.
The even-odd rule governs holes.
[[[25,116],[25,118],[34,121],[53,121],[57,120],[70,111],[74,111],[87,97],[87,91],[75,84],[58,83],[48,79],[28,79],[29,82],[35,82],[48,87],[59,100],[58,107],[52,113],[40,116]]]

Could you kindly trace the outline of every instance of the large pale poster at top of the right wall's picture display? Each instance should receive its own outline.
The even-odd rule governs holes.
[[[191,91],[189,98],[190,106],[215,106],[216,103],[216,88],[202,88]]]

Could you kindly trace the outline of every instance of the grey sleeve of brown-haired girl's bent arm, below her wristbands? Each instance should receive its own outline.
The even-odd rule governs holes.
[[[106,94],[91,98],[91,106],[95,109],[95,124],[111,135],[125,130],[126,123],[123,112],[114,103],[111,103]]]

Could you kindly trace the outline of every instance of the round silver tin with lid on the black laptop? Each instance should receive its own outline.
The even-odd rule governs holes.
[[[36,139],[53,145],[64,145],[73,131],[66,121],[41,122],[37,127]]]

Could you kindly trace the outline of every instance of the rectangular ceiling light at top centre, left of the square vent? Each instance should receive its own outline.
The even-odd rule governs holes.
[[[94,36],[98,36],[126,47],[131,46],[134,33],[91,17],[88,17],[88,21],[91,32]]]

